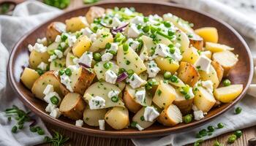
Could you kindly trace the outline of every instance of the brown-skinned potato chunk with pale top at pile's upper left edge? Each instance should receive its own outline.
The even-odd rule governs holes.
[[[66,29],[66,26],[64,23],[61,22],[53,22],[50,23],[50,25],[47,27],[46,30],[46,38],[50,41],[50,42],[54,42],[56,39],[56,36],[61,35],[61,33],[64,31],[64,29],[62,28],[58,28],[58,26],[63,27],[64,29]]]

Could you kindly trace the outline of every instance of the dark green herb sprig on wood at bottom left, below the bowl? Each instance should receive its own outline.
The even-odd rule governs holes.
[[[53,138],[45,137],[45,142],[52,144],[53,146],[62,146],[69,140],[69,137],[64,137],[59,132],[54,131]]]

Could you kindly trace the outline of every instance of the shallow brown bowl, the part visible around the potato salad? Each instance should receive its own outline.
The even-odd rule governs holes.
[[[226,23],[222,23],[215,18],[211,18],[206,14],[202,14],[200,12],[196,12],[191,9],[182,8],[176,4],[169,3],[143,3],[143,2],[101,2],[98,5],[100,7],[105,8],[113,8],[113,7],[135,7],[138,12],[142,12],[144,15],[163,15],[167,12],[171,12],[174,15],[178,15],[184,20],[188,20],[190,23],[194,23],[194,28],[200,28],[204,26],[213,26],[218,29],[219,33],[219,43],[229,45],[234,47],[234,53],[239,55],[238,64],[236,64],[235,68],[230,72],[230,76],[228,77],[233,84],[243,84],[244,91],[241,95],[230,104],[222,104],[220,107],[214,108],[206,118],[200,121],[193,121],[189,124],[178,124],[174,127],[166,127],[162,126],[159,123],[154,123],[153,126],[146,128],[144,131],[138,131],[133,128],[125,128],[121,131],[113,130],[110,126],[106,127],[106,131],[100,131],[98,127],[83,126],[83,128],[79,128],[74,126],[75,121],[69,120],[67,118],[59,118],[54,119],[50,118],[48,113],[45,112],[45,102],[40,101],[39,99],[34,98],[33,94],[29,89],[27,89],[22,82],[20,82],[20,74],[23,72],[23,66],[29,66],[29,51],[27,46],[29,44],[34,44],[36,42],[36,38],[45,37],[45,30],[47,26],[53,21],[61,21],[68,18],[72,18],[78,15],[85,15],[88,11],[88,7],[82,7],[79,9],[72,10],[70,12],[66,12],[63,15],[59,15],[59,17],[54,18],[53,20],[48,21],[47,23],[42,24],[38,28],[31,31],[25,37],[20,39],[17,45],[15,45],[12,50],[12,54],[10,55],[9,62],[9,79],[12,84],[12,87],[15,91],[20,95],[20,99],[29,107],[33,112],[39,115],[42,119],[56,124],[56,126],[61,126],[62,128],[68,128],[72,131],[78,131],[82,134],[89,134],[98,137],[122,137],[122,138],[131,138],[131,137],[156,137],[165,134],[170,134],[176,131],[187,130],[188,128],[194,128],[195,126],[199,126],[200,124],[205,123],[206,121],[211,120],[217,115],[220,115],[222,112],[227,110],[233,104],[236,104],[245,94],[246,89],[248,88],[249,83],[252,80],[252,57],[249,53],[249,49],[244,42],[244,39],[240,37],[240,35],[233,30]],[[132,115],[131,115],[132,116]]]

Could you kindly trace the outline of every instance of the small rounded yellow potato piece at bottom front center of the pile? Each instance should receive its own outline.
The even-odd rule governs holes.
[[[106,113],[105,121],[116,130],[127,128],[129,126],[129,112],[124,107],[113,107]]]

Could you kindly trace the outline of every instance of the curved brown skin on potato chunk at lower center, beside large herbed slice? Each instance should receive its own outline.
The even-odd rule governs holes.
[[[138,110],[140,110],[141,107],[142,107],[140,104],[138,104],[138,103],[135,101],[134,97],[132,97],[132,94],[129,93],[129,89],[128,89],[127,87],[126,87],[125,90],[124,90],[124,97],[123,97],[123,99],[124,99],[124,105],[125,105],[125,107],[127,107],[127,109],[128,109],[129,111],[131,111],[131,112],[136,113],[136,112],[138,112]]]

